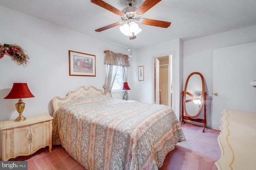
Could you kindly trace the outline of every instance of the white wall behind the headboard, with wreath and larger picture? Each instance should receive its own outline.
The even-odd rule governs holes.
[[[26,82],[35,96],[23,99],[25,117],[52,115],[51,102],[55,96],[65,97],[79,86],[95,86],[103,90],[105,50],[128,55],[123,47],[2,6],[0,16],[0,43],[18,44],[30,57],[27,66],[18,66],[8,55],[0,59],[0,121],[18,117],[15,109],[18,99],[4,99],[14,82]],[[96,55],[96,76],[69,76],[68,50]]]

